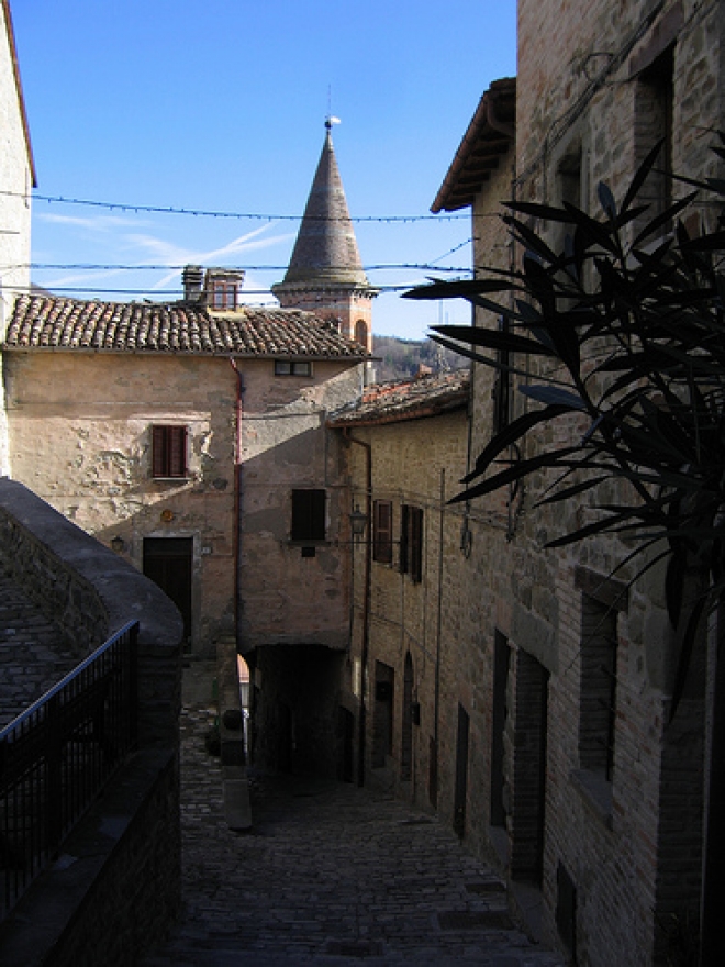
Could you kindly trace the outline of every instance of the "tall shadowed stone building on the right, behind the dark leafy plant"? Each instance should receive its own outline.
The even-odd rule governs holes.
[[[598,0],[583,16],[566,0],[520,0],[515,141],[512,129],[497,140],[500,112],[488,118],[513,82],[492,85],[434,204],[471,207],[477,270],[521,257],[489,218],[501,199],[571,201],[596,215],[600,180],[622,197],[660,140],[662,162],[645,186],[650,213],[687,190],[670,173],[722,177],[710,146],[725,126],[724,41],[717,2]],[[482,178],[487,160],[494,170]],[[694,218],[714,216],[706,198],[699,204]],[[545,231],[562,243],[562,229]],[[481,309],[476,324],[501,323]],[[475,458],[526,401],[486,366],[472,386]],[[513,456],[542,446],[528,441]],[[480,729],[464,835],[500,857],[514,894],[540,898],[543,933],[572,963],[673,963],[678,946],[694,949],[713,859],[706,694],[692,687],[668,722],[673,643],[661,575],[628,586],[625,566],[612,577],[627,553],[612,538],[544,552],[581,521],[576,501],[536,508],[544,482],[470,501]]]

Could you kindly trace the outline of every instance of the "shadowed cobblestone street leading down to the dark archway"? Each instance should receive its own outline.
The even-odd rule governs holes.
[[[224,822],[213,666],[185,671],[183,912],[144,967],[559,967],[515,927],[503,885],[435,818],[367,789],[253,777],[254,826]]]

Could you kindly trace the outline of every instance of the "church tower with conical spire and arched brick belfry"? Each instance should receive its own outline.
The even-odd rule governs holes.
[[[285,309],[339,321],[341,333],[372,352],[372,300],[332,143],[332,119],[285,280],[272,292]]]

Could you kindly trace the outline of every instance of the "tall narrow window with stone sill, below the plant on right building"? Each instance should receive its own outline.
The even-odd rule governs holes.
[[[616,701],[616,611],[582,594],[579,764],[612,781]]]

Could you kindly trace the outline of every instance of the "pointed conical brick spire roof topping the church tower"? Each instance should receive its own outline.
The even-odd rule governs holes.
[[[325,143],[292,258],[279,288],[315,285],[369,286],[347,210],[345,189],[333,148],[330,119],[325,122]]]

